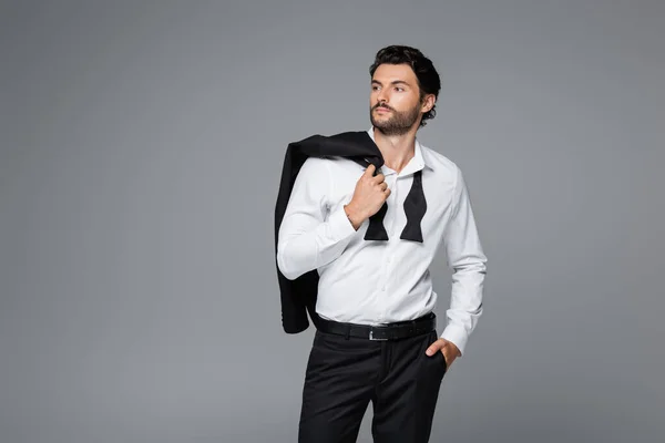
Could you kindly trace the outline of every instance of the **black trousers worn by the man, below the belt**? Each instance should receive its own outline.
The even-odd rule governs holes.
[[[372,402],[375,443],[427,443],[446,360],[426,349],[437,331],[371,341],[316,331],[307,362],[298,443],[354,443]]]

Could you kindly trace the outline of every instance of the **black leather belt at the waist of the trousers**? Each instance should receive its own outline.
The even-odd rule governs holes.
[[[436,330],[437,316],[430,312],[416,320],[398,321],[381,326],[342,323],[319,317],[316,328],[321,332],[345,337],[357,337],[368,340],[398,340]]]

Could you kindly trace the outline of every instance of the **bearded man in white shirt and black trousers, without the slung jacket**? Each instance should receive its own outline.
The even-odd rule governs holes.
[[[278,225],[279,271],[319,277],[300,443],[355,442],[370,401],[375,442],[428,442],[441,380],[482,313],[487,257],[461,171],[416,137],[434,116],[439,74],[419,50],[392,45],[370,75],[364,135],[382,166],[308,156]],[[370,236],[381,210],[383,234]],[[454,272],[438,336],[429,266],[440,245]]]

